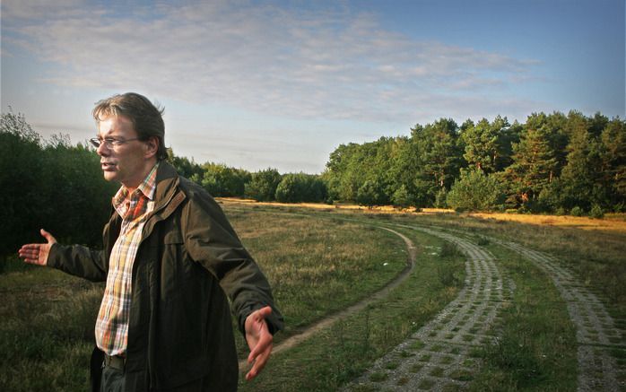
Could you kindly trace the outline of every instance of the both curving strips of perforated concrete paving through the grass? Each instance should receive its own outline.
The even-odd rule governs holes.
[[[465,289],[429,324],[349,385],[348,390],[463,388],[465,381],[472,378],[471,348],[488,339],[484,334],[489,333],[500,304],[507,298],[494,258],[467,240],[467,232],[453,231],[456,235],[452,235],[420,227],[413,229],[454,242],[467,255]],[[481,237],[513,250],[552,278],[577,329],[578,391],[623,390],[625,386],[620,381],[623,370],[619,370],[611,351],[626,349],[626,344],[603,302],[566,267],[560,266],[556,258],[515,242]],[[509,288],[514,288],[512,283]],[[476,318],[474,314],[481,315]]]

